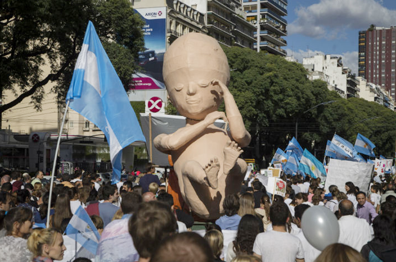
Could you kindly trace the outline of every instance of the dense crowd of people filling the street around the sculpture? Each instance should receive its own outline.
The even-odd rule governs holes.
[[[271,195],[252,174],[239,194],[224,197],[224,215],[194,232],[195,216],[175,205],[151,164],[117,184],[76,171],[49,181],[19,172],[1,177],[0,260],[62,261],[62,234],[82,207],[100,234],[96,262],[391,262],[396,258],[396,192],[392,175],[374,175],[369,190],[345,192],[308,175],[281,178],[286,195]],[[358,178],[357,178],[358,179]],[[323,251],[301,230],[304,212],[322,206],[338,219],[338,243]],[[197,220],[197,219],[196,219]],[[49,223],[49,227],[46,224]],[[74,262],[93,261],[73,258]]]

